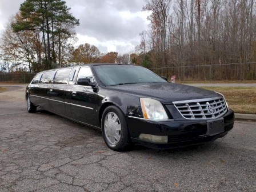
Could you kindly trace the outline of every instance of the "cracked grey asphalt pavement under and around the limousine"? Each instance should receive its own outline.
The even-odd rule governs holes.
[[[118,153],[101,132],[38,110],[25,87],[0,93],[0,192],[256,191],[256,123],[201,146]]]

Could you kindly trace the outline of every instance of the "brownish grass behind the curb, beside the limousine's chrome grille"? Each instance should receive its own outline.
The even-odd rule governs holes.
[[[225,95],[235,113],[256,114],[256,87],[202,87]]]

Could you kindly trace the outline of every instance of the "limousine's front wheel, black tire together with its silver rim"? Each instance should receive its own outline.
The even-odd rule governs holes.
[[[106,145],[114,151],[125,151],[130,144],[129,131],[122,111],[107,107],[101,119],[102,135]]]

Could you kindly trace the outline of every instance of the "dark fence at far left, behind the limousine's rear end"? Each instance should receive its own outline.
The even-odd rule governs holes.
[[[36,73],[0,73],[1,83],[30,83]]]

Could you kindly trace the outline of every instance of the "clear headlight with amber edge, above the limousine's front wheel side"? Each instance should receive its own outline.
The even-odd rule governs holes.
[[[141,109],[145,119],[167,120],[169,119],[162,104],[150,98],[141,98]]]

